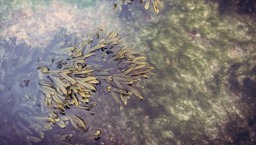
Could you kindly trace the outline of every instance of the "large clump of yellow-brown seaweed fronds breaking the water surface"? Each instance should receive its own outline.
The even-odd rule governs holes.
[[[121,110],[131,96],[143,99],[136,84],[148,78],[153,67],[143,61],[144,55],[127,49],[116,31],[100,27],[84,40],[63,32],[45,48],[52,52],[50,65],[38,67],[47,106],[62,114],[71,106],[88,111],[91,108],[84,105],[96,91],[111,94]]]

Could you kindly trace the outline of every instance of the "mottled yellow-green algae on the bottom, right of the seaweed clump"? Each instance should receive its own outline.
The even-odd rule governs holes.
[[[150,127],[160,132],[177,132],[174,137],[159,134],[162,141],[151,143],[233,142],[234,135],[226,141],[221,137],[232,132],[223,127],[234,120],[227,118],[229,113],[241,115],[240,111],[246,106],[237,106],[241,96],[230,88],[228,72],[230,62],[250,58],[255,66],[254,20],[232,11],[222,15],[218,3],[211,1],[168,1],[165,4],[170,9],[143,23],[143,28],[136,33],[142,40],[138,46],[145,46],[141,51],[147,52],[149,62],[156,67],[156,76],[148,83],[151,90],[145,92],[152,96],[148,103],[155,109],[158,104],[164,106],[166,113],[157,118],[168,118],[167,126],[151,122]],[[196,34],[191,34],[192,31]],[[248,68],[241,69],[241,73],[246,70]],[[225,109],[227,111],[223,111]],[[173,123],[175,121],[180,123]],[[244,119],[241,122],[245,123]]]

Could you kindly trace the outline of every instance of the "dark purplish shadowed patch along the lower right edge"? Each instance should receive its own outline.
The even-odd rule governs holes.
[[[252,69],[248,69],[252,65]],[[229,122],[221,138],[227,144],[256,144],[256,81],[252,79],[256,75],[256,66],[249,61],[234,63],[230,65],[228,74],[230,90],[236,95],[241,94],[237,106],[244,117],[226,110]]]

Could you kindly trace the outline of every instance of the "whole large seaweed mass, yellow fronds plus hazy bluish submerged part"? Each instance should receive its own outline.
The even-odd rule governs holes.
[[[42,53],[15,43],[16,38],[1,40],[0,88],[6,95],[0,106],[8,112],[1,110],[6,118],[0,122],[10,127],[1,131],[3,142],[93,142],[102,130],[93,130],[84,121],[85,113],[93,115],[91,109],[97,106],[91,97],[110,95],[120,110],[132,97],[143,99],[138,88],[153,67],[144,55],[121,43],[118,32],[100,27],[83,38],[66,33],[60,29]]]

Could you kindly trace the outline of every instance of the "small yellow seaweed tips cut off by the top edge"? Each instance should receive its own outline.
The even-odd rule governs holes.
[[[143,4],[145,2],[145,10],[148,10],[150,7],[150,3],[152,4],[152,7],[156,13],[159,13],[159,8],[163,8],[164,3],[161,0],[139,0],[140,4]],[[134,0],[115,0],[114,8],[118,8],[118,10],[122,10],[122,6],[129,6],[132,4]]]

